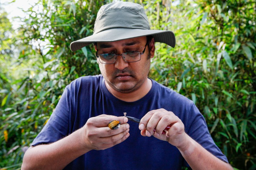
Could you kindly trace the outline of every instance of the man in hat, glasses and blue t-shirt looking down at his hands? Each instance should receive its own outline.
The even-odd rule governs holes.
[[[193,102],[148,78],[155,42],[175,46],[171,31],[150,30],[142,6],[115,2],[70,48],[92,42],[102,75],[65,88],[22,169],[232,169]],[[108,127],[113,120],[119,128]]]

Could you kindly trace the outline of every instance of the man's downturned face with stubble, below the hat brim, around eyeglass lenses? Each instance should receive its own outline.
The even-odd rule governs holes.
[[[115,42],[98,42],[95,49],[98,54],[115,53],[122,54],[129,51],[139,51],[142,53],[146,45],[146,37],[125,39]],[[122,56],[117,56],[113,64],[98,64],[107,86],[121,93],[130,93],[141,87],[147,80],[150,69],[150,57],[154,57],[155,47],[148,51],[148,46],[140,61],[127,63]],[[149,57],[150,56],[150,57]]]

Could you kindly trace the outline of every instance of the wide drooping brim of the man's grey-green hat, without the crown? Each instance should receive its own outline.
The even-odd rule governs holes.
[[[155,42],[163,42],[171,47],[175,47],[175,36],[172,31],[114,28],[73,41],[70,44],[70,49],[76,51],[93,42],[112,42],[149,35],[154,37]]]

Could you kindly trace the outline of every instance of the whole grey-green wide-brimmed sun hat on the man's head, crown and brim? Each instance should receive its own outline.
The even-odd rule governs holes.
[[[113,42],[141,36],[153,36],[155,42],[175,47],[172,31],[151,30],[144,8],[131,2],[112,2],[101,6],[94,23],[94,33],[70,44],[76,51],[93,42]]]

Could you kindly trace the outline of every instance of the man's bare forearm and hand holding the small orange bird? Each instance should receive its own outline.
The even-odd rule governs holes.
[[[112,120],[121,122],[118,129],[108,127]],[[127,121],[127,117],[123,116],[91,117],[82,128],[59,141],[31,146],[24,155],[21,169],[63,169],[92,149],[103,150],[119,144],[130,135]]]

